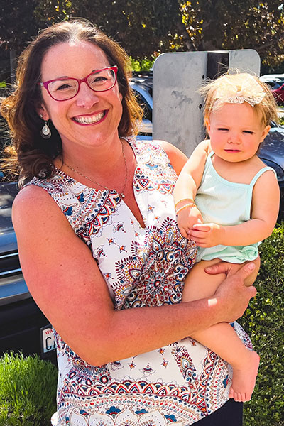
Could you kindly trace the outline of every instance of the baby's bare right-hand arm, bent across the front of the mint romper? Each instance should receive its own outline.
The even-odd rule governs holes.
[[[197,224],[190,238],[200,247],[247,246],[271,235],[279,211],[280,192],[273,171],[268,170],[258,178],[253,187],[251,220],[234,226]]]

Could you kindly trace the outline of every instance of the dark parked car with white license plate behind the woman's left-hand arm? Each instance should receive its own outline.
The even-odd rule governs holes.
[[[28,292],[18,260],[11,222],[17,193],[16,182],[0,183],[0,356],[5,351],[21,351],[24,355],[39,354],[55,363],[52,329]]]

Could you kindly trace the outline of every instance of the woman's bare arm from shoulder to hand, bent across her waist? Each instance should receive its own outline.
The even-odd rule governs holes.
[[[197,329],[240,317],[255,288],[248,266],[210,299],[115,311],[92,252],[40,187],[25,187],[13,204],[13,225],[26,283],[62,339],[85,361],[102,365],[165,346]]]

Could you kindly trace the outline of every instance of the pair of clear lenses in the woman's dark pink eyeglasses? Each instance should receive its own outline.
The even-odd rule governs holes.
[[[99,72],[92,72],[87,77],[87,84],[94,92],[104,92],[111,89],[115,84],[114,70],[100,70]],[[62,78],[60,80],[53,80],[48,84],[48,90],[51,96],[62,101],[74,97],[79,91],[79,82],[73,78]]]

